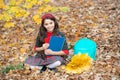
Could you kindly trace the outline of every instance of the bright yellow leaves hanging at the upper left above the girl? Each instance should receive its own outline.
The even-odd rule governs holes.
[[[33,18],[33,22],[35,23],[35,25],[39,25],[41,22],[40,16],[42,15],[42,13],[57,12],[58,10],[66,12],[68,10],[67,7],[51,6],[49,5],[50,1],[51,0],[0,0],[0,9],[2,10],[0,13],[0,20],[5,23],[2,24],[2,26],[4,26],[4,28],[11,28],[17,25],[17,19],[22,22],[22,20],[31,17]],[[33,10],[33,12],[31,12],[31,10]],[[7,25],[9,24],[7,22],[11,21],[14,21],[12,22],[14,25]]]

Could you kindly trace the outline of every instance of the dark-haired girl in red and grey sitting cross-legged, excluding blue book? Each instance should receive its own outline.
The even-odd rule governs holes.
[[[69,53],[66,40],[61,51],[52,51],[48,49],[49,40],[52,35],[65,38],[65,35],[59,31],[56,18],[52,14],[45,14],[42,16],[42,23],[34,47],[34,51],[37,54],[35,57],[31,56],[27,58],[25,63],[32,66],[43,66],[41,72],[47,68],[56,71],[57,66],[65,63],[63,56]],[[46,54],[50,55],[48,56]]]

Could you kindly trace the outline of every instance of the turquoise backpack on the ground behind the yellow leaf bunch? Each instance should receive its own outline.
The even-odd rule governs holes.
[[[96,60],[96,48],[97,45],[93,40],[88,38],[81,38],[74,44],[74,54],[88,53],[93,60]]]

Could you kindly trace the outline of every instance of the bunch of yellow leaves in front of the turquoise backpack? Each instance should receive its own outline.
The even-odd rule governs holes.
[[[92,59],[87,54],[77,54],[67,64],[65,70],[67,73],[81,73],[84,70],[89,70],[92,65]]]

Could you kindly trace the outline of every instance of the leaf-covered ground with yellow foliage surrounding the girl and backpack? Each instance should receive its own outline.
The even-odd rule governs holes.
[[[0,0],[0,70],[23,63],[32,49],[40,18],[50,12],[66,34],[69,49],[82,37],[97,43],[97,60],[81,74],[38,73],[22,68],[0,73],[4,80],[119,80],[120,79],[119,0]]]

